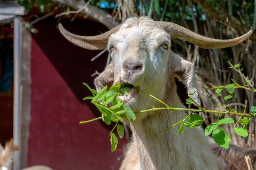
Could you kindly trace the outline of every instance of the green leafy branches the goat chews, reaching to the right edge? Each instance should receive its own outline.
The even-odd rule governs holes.
[[[253,86],[250,84],[250,80],[247,80],[246,77],[244,76],[244,74],[241,73],[242,69],[240,69],[240,64],[236,64],[235,66],[233,66],[230,63],[230,65],[231,65],[231,68],[233,68],[239,72],[239,74],[244,78],[244,81],[247,83],[247,85],[239,85],[236,81],[234,81],[232,79],[232,81],[234,82],[232,84],[218,86],[218,87],[212,87],[212,88],[204,88],[204,89],[206,91],[207,90],[215,90],[217,97],[220,95],[221,91],[223,91],[224,89],[227,89],[227,91],[230,93],[230,95],[227,95],[224,97],[225,101],[227,101],[228,99],[234,98],[233,94],[234,94],[235,88],[242,88],[245,90],[256,92],[255,88],[253,88]],[[239,67],[239,69],[236,69],[238,67]],[[123,118],[127,119],[128,121],[134,121],[136,119],[135,114],[138,114],[138,113],[145,113],[145,112],[150,112],[150,111],[160,111],[160,110],[191,112],[184,119],[175,123],[171,127],[168,127],[161,131],[161,132],[164,132],[166,130],[169,130],[172,127],[175,127],[175,126],[181,124],[180,130],[179,130],[180,134],[183,133],[184,125],[186,127],[193,128],[193,127],[201,126],[203,124],[204,117],[202,117],[198,114],[194,114],[194,113],[203,112],[203,113],[218,114],[217,122],[211,123],[209,126],[206,127],[205,135],[209,136],[210,134],[212,134],[212,138],[214,139],[214,141],[218,145],[220,145],[221,147],[224,147],[224,148],[229,148],[229,144],[231,142],[231,135],[232,135],[233,131],[240,136],[247,137],[248,133],[250,133],[247,130],[247,125],[250,123],[250,119],[252,117],[256,116],[256,107],[255,106],[251,107],[250,112],[252,112],[252,113],[245,113],[246,107],[244,108],[244,113],[238,113],[235,111],[235,109],[233,109],[233,110],[224,109],[222,106],[219,106],[219,107],[221,107],[224,111],[206,110],[206,109],[202,108],[199,103],[196,103],[194,99],[192,99],[192,97],[191,97],[192,94],[189,94],[189,96],[188,96],[189,98],[186,99],[186,103],[197,105],[199,109],[174,108],[174,107],[167,105],[165,102],[161,101],[160,99],[157,99],[155,96],[148,94],[147,92],[142,91],[138,88],[136,88],[136,89],[147,94],[148,96],[151,96],[152,98],[156,99],[158,102],[162,103],[166,107],[151,108],[151,109],[147,109],[147,110],[143,110],[143,111],[137,111],[134,113],[131,110],[131,108],[129,108],[128,105],[125,105],[122,102],[122,100],[119,99],[119,97],[118,97],[118,96],[122,96],[122,95],[127,96],[129,94],[129,92],[131,91],[131,88],[132,88],[129,85],[116,84],[116,85],[113,85],[112,87],[110,87],[109,89],[107,86],[105,86],[98,93],[96,90],[91,89],[86,83],[83,83],[83,84],[86,85],[87,88],[93,94],[93,96],[85,97],[84,100],[90,99],[91,103],[96,105],[96,107],[99,109],[99,111],[102,113],[103,116],[95,118],[95,119],[91,119],[88,121],[82,121],[82,122],[80,122],[80,124],[93,122],[93,121],[99,120],[99,119],[103,119],[104,122],[108,125],[110,125],[111,122],[116,123],[116,125],[113,127],[113,129],[111,130],[111,133],[110,133],[111,151],[112,152],[114,150],[116,150],[116,147],[118,144],[118,139],[116,138],[116,135],[115,135],[115,133],[113,133],[113,131],[116,129],[117,133],[119,135],[119,138],[122,139],[122,137],[124,136],[124,127],[122,125],[120,125],[119,123],[123,122]],[[227,108],[227,107],[229,107],[229,105],[225,105],[225,107]],[[220,120],[219,118],[221,115],[231,115],[231,116],[233,116],[233,118],[234,118],[234,115],[240,116],[240,117],[238,120],[236,120],[234,118],[236,120],[236,123],[235,123],[234,119],[232,119],[232,118],[224,118],[224,119]],[[225,131],[222,128],[219,127],[219,125],[233,124],[233,123],[235,123],[235,125],[228,135],[225,133]],[[236,127],[238,124],[241,127]],[[253,133],[250,133],[250,134],[255,137],[255,135]]]

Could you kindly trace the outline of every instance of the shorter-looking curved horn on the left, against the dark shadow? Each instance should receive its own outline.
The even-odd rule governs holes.
[[[96,36],[80,36],[76,34],[72,34],[67,31],[62,24],[58,25],[58,28],[61,34],[73,44],[78,45],[79,47],[86,48],[88,50],[103,50],[107,48],[108,39],[111,34],[115,33],[119,30],[120,26],[116,26],[115,28],[105,32],[104,34],[96,35]]]

